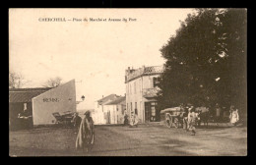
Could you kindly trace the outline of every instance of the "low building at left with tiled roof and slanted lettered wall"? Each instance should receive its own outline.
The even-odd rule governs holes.
[[[25,109],[32,115],[33,125],[55,123],[54,112],[76,112],[75,80],[54,88],[9,89],[10,129],[18,127],[18,114]]]

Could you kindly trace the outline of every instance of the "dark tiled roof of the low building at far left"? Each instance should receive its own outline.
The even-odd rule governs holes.
[[[32,98],[51,89],[52,87],[38,88],[10,88],[9,102],[32,102]]]

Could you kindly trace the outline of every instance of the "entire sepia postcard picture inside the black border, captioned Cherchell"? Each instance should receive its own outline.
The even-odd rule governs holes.
[[[10,8],[9,156],[247,156],[246,8]]]

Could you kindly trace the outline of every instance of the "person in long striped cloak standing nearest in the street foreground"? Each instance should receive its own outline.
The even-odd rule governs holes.
[[[82,120],[76,140],[76,149],[91,151],[95,143],[95,126],[91,112],[87,111]]]

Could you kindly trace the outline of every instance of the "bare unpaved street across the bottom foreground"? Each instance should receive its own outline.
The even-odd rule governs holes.
[[[96,127],[96,145],[91,153],[75,150],[72,129],[40,128],[10,132],[10,156],[183,156],[246,155],[247,129],[210,126],[196,136],[160,124],[139,128]]]

